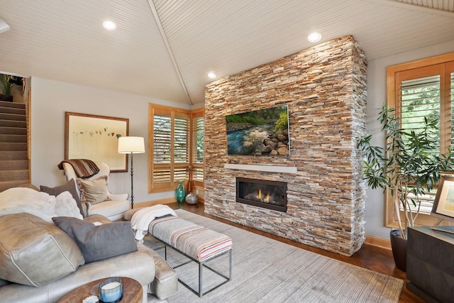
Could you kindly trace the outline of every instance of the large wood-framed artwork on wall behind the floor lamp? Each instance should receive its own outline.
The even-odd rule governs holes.
[[[118,138],[128,134],[129,119],[65,111],[65,160],[102,161],[111,172],[127,172],[128,157],[117,150]]]

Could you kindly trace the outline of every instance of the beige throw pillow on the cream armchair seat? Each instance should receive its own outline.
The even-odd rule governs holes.
[[[107,189],[108,176],[101,176],[93,180],[77,179],[77,185],[80,189],[80,199],[82,202],[97,204],[109,201],[109,191]]]

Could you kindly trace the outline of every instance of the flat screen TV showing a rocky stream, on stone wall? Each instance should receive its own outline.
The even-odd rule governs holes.
[[[228,155],[290,155],[287,105],[226,116]]]

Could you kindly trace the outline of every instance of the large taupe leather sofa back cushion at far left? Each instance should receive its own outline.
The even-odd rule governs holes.
[[[0,278],[40,286],[84,264],[77,244],[52,223],[32,214],[0,217]]]

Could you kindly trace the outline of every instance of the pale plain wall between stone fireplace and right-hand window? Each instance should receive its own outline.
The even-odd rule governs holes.
[[[419,60],[454,52],[454,40],[448,43],[419,48],[405,53],[370,60],[367,65],[367,132],[372,134],[374,145],[384,146],[377,114],[386,102],[386,68],[404,62]],[[367,57],[367,54],[366,54]],[[389,238],[389,228],[384,227],[384,196],[382,189],[368,189],[365,209],[365,231],[367,235]]]

